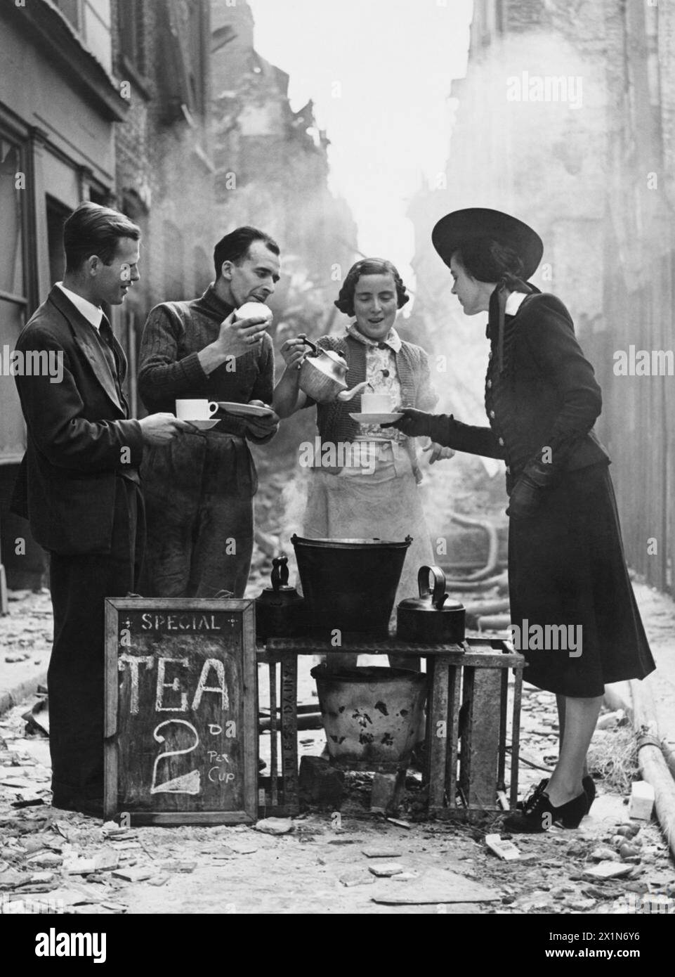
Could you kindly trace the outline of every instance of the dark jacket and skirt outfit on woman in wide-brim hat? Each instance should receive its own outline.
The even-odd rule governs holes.
[[[523,635],[532,625],[567,625],[565,647],[561,640],[557,649],[531,649],[521,641],[528,682],[570,697],[600,696],[608,682],[654,670],[626,570],[610,459],[593,432],[601,390],[555,296],[532,294],[506,317],[501,370],[497,329],[487,329],[490,427],[437,417],[431,437],[503,458],[509,493],[530,462],[550,457],[539,465],[545,486],[535,513],[509,525],[511,621]],[[579,635],[580,649],[572,650]]]

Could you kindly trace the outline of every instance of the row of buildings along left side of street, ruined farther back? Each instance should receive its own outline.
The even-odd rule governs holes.
[[[141,280],[110,311],[134,413],[149,310],[199,295],[214,243],[239,224],[281,247],[274,319],[316,331],[354,260],[356,228],[329,190],[313,107],[291,108],[288,75],[255,50],[247,3],[31,0],[3,5],[0,22],[0,214],[13,245],[0,258],[0,351],[63,276],[63,220],[83,199],[143,231]],[[0,579],[15,588],[44,572],[9,513],[24,446],[14,378],[0,374]]]

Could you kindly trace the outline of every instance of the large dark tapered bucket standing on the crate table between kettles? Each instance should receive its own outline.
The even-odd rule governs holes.
[[[412,542],[384,539],[304,539],[291,536],[305,598],[307,625],[321,636],[338,630],[389,636],[389,618]]]

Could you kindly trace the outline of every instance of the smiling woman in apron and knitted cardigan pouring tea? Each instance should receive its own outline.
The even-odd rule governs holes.
[[[315,398],[303,392],[301,368],[307,354],[303,337],[282,345],[286,368],[274,390],[274,411],[279,417],[316,405],[322,450],[315,454],[312,466],[303,534],[314,539],[412,536],[401,573],[400,597],[417,592],[418,568],[434,562],[417,490],[421,476],[414,441],[400,431],[384,432],[378,423],[359,424],[351,414],[360,412],[360,395],[367,388],[388,397],[390,411],[394,404],[430,410],[438,400],[426,353],[401,340],[394,328],[397,313],[407,301],[401,276],[390,261],[358,261],[335,302],[340,312],[355,321],[343,335],[322,336],[316,343],[319,351],[331,357],[336,375],[345,375],[346,364],[346,387],[339,384],[343,392],[337,396],[336,391],[329,391],[325,401],[321,386],[316,386]],[[306,369],[311,364],[309,359]],[[330,362],[327,368],[330,371]],[[318,403],[319,397],[323,403]],[[332,458],[323,451],[325,446],[333,446]],[[431,451],[431,461],[454,453],[435,445],[425,450]],[[322,463],[326,459],[329,466]],[[338,463],[330,464],[333,459]]]

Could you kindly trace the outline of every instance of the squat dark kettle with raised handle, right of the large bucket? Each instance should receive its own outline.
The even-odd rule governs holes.
[[[434,589],[429,576],[434,577]],[[419,597],[401,601],[397,608],[397,638],[429,644],[459,645],[464,641],[465,611],[462,604],[446,604],[445,574],[440,567],[420,567]]]

